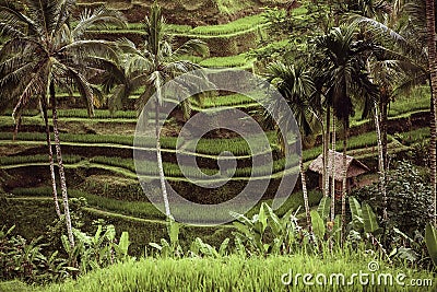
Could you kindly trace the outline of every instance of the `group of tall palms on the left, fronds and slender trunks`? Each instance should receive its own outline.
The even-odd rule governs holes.
[[[161,86],[179,74],[198,69],[197,65],[181,61],[178,57],[206,51],[206,46],[199,40],[189,40],[174,50],[169,34],[165,31],[161,8],[156,3],[144,21],[146,35],[141,47],[127,39],[107,42],[90,38],[86,34],[90,28],[107,25],[125,27],[126,21],[119,12],[102,8],[85,10],[73,26],[74,5],[73,0],[0,0],[1,104],[13,105],[15,132],[26,107],[40,108],[46,127],[55,208],[58,217],[66,222],[71,246],[74,246],[74,236],[59,140],[57,91],[79,92],[86,102],[90,117],[93,116],[94,106],[103,102],[103,93],[109,92],[108,105],[111,110],[121,109],[134,91],[142,90],[138,108],[142,108],[151,96],[156,96],[158,112],[162,103]],[[91,82],[96,79],[102,86]],[[58,203],[49,108],[52,110],[52,133],[63,214]],[[160,132],[156,132],[156,137],[160,137]],[[166,214],[170,217],[160,139],[157,159],[161,162],[160,175]]]

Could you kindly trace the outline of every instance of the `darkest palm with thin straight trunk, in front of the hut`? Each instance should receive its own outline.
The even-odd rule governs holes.
[[[347,137],[350,116],[354,113],[353,97],[375,96],[377,87],[366,72],[366,54],[371,44],[357,38],[355,24],[332,28],[328,34],[316,38],[316,46],[326,56],[320,68],[328,75],[328,91],[332,94],[334,117],[343,127],[342,167],[342,243],[345,237],[345,200],[347,182]]]

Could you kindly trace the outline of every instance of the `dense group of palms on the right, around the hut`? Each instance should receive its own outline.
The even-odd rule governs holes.
[[[318,1],[318,4],[320,1]],[[321,1],[323,2],[323,1]],[[324,1],[332,7],[332,2]],[[354,1],[346,1],[354,2]],[[345,237],[346,149],[350,117],[355,110],[374,117],[378,136],[379,188],[383,198],[382,218],[387,222],[386,171],[388,104],[397,94],[413,86],[428,84],[430,100],[430,171],[436,198],[436,30],[435,1],[355,1],[354,13],[346,13],[342,24],[334,10],[331,28],[316,33],[308,42],[304,60],[276,61],[267,68],[267,77],[275,84],[293,108],[302,136],[322,133],[323,194],[331,189],[331,217],[335,217],[334,160],[336,124],[342,126],[343,165],[341,194],[341,238]],[[344,3],[340,4],[344,9]],[[358,11],[356,11],[358,10]],[[328,11],[328,10],[324,10]],[[424,15],[426,14],[426,23]],[[324,23],[320,27],[329,27]],[[310,61],[309,61],[310,60]],[[272,103],[274,106],[274,101]],[[286,117],[281,122],[288,122]],[[332,143],[332,156],[329,144]],[[332,167],[329,167],[332,165]],[[310,226],[305,170],[300,163],[307,222]],[[436,202],[434,202],[434,210]],[[434,212],[434,220],[436,220]]]

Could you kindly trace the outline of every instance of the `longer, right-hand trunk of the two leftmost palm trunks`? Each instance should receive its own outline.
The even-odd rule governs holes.
[[[56,95],[55,84],[54,84],[54,82],[51,82],[50,83],[51,112],[52,112],[52,119],[54,119],[56,156],[58,159],[59,178],[60,178],[61,191],[62,191],[63,213],[66,215],[67,235],[68,235],[71,247],[74,247],[73,229],[71,226],[69,199],[68,199],[68,194],[67,194],[66,172],[63,168],[61,144],[59,141],[58,112],[56,108],[56,96],[55,95]]]

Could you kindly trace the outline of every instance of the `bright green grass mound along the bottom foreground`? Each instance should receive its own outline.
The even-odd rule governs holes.
[[[368,262],[371,260],[380,265],[380,269],[375,273],[368,270]],[[405,285],[397,284],[394,279],[393,285],[383,284],[383,277],[380,277],[382,285],[363,285],[358,277],[352,278],[353,273],[359,271],[369,273],[368,279],[375,275],[375,283],[378,281],[378,275],[390,273],[395,279],[398,275],[403,273]],[[283,277],[284,273],[292,275],[292,284],[285,285],[282,282],[282,278],[285,282],[288,280],[287,277]],[[308,281],[315,282],[315,285],[305,285],[302,276],[295,281],[297,273],[314,275]],[[319,273],[327,277],[324,287],[316,283],[316,275]],[[331,275],[339,273],[344,276],[344,284],[343,278],[331,278]],[[335,279],[339,279],[341,285],[330,285],[330,281],[336,282]],[[267,258],[142,258],[94,270],[76,281],[69,280],[61,284],[28,288],[23,291],[435,291],[434,287],[409,287],[412,279],[435,280],[435,277],[427,271],[390,267],[373,256],[351,250],[326,255],[323,258],[305,254]],[[324,281],[321,277],[318,280]]]

